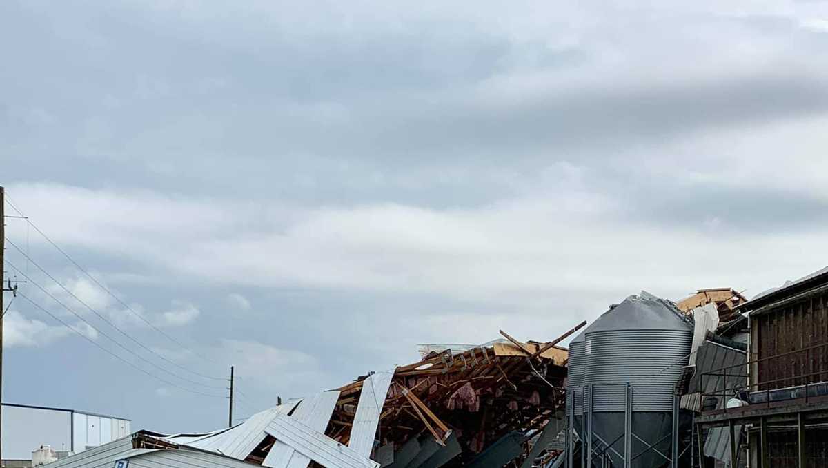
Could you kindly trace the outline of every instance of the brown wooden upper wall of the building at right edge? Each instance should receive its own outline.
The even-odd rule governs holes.
[[[751,318],[753,359],[828,343],[828,293]],[[828,381],[828,345],[759,362],[753,384],[761,390]],[[764,384],[767,383],[767,384]],[[753,389],[756,389],[754,387]]]

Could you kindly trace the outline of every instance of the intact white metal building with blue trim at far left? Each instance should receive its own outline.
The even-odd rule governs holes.
[[[2,403],[3,461],[30,461],[31,451],[41,445],[78,453],[130,433],[130,421],[123,417]]]

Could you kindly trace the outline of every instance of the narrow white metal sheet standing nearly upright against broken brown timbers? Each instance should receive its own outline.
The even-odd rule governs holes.
[[[359,393],[359,404],[351,427],[348,446],[363,456],[371,456],[373,440],[377,435],[379,415],[383,411],[394,371],[378,372],[368,376]]]

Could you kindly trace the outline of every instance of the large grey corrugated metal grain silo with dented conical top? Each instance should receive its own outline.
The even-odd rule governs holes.
[[[590,453],[612,466],[669,466],[658,452],[671,452],[675,385],[692,333],[689,319],[671,302],[646,292],[628,297],[587,327],[582,365],[576,366],[583,368],[585,466]]]

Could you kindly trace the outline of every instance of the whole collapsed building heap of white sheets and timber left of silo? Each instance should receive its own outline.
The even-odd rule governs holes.
[[[568,351],[506,338],[427,345],[420,361],[296,398],[238,426],[137,432],[53,468],[543,466],[561,450]],[[458,352],[459,351],[459,352]],[[537,465],[536,465],[537,463]]]

